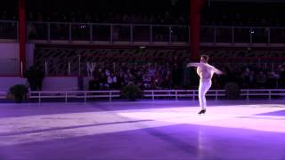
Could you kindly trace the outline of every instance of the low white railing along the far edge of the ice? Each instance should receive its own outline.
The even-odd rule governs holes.
[[[225,90],[209,90],[207,97],[218,98],[226,97]],[[272,99],[273,96],[285,96],[285,89],[242,89],[240,90],[240,97],[244,97],[247,100],[249,98],[267,98]],[[0,92],[0,99],[6,99],[7,93]],[[81,99],[87,102],[88,99],[107,99],[113,100],[120,97],[120,91],[44,91],[44,92],[29,92],[29,99],[36,99],[39,103],[42,100],[63,99],[65,102],[73,99]],[[159,98],[191,98],[196,100],[198,98],[198,90],[144,90],[143,99],[155,100]]]

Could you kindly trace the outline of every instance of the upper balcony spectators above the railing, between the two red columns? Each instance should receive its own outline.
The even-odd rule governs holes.
[[[188,24],[188,16],[163,12],[159,14],[124,12],[28,12],[29,21],[79,23]]]

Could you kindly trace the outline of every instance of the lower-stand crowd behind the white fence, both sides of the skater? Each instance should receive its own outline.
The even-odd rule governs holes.
[[[90,81],[91,90],[121,89],[129,82],[142,89],[197,89],[199,77],[195,68],[185,68],[186,62],[98,65]],[[240,88],[284,88],[285,65],[274,68],[257,64],[215,64],[224,75],[213,77],[213,89],[235,82]]]

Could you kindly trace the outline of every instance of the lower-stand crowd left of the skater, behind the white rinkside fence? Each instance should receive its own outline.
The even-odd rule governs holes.
[[[183,73],[182,68],[176,65],[171,68],[169,64],[126,64],[116,66],[116,69],[102,65],[95,68],[94,78],[90,81],[91,90],[121,89],[133,82],[142,89],[171,89],[180,88]]]

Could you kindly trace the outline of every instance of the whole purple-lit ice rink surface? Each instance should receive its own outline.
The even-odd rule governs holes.
[[[1,103],[0,159],[284,160],[285,100]]]

